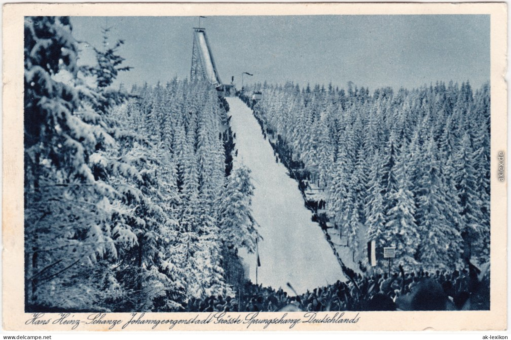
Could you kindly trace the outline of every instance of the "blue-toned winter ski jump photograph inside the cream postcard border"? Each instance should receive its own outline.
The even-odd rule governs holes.
[[[490,15],[25,17],[24,47],[26,312],[490,309]]]

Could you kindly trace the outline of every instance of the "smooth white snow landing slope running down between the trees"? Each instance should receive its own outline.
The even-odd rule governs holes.
[[[312,213],[304,206],[297,182],[287,175],[282,163],[275,162],[252,111],[239,98],[226,99],[238,149],[234,167],[243,163],[250,168],[255,186],[252,214],[264,238],[259,241],[258,283],[293,294],[289,282],[301,294],[345,280],[323,232],[311,221]],[[240,255],[255,283],[256,255],[245,251]]]

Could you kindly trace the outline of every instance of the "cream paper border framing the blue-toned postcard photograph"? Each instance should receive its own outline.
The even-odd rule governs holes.
[[[357,323],[251,325],[248,330],[503,330],[507,328],[507,172],[497,179],[498,153],[507,160],[507,6],[505,3],[436,4],[6,4],[3,13],[3,328],[24,331],[67,331],[69,325],[30,325],[24,312],[24,167],[23,84],[24,16],[197,16],[197,15],[371,15],[371,14],[489,14],[491,16],[491,310],[430,312],[360,312]],[[421,84],[417,84],[421,85]],[[259,319],[304,318],[305,312],[260,313]],[[334,312],[335,313],[335,312]],[[333,312],[329,312],[332,316]],[[75,313],[86,320],[90,313]],[[244,319],[248,313],[240,314]],[[321,315],[327,312],[319,313]],[[346,312],[353,318],[357,312]],[[146,313],[144,319],[206,319],[208,313]],[[58,314],[47,314],[58,319]],[[140,313],[138,314],[140,316]],[[138,317],[137,316],[137,317]],[[105,319],[128,322],[130,313],[108,313]],[[151,330],[151,324],[129,330]],[[77,331],[108,330],[109,325],[80,324]],[[158,325],[155,330],[169,330]],[[112,330],[123,330],[120,326]],[[124,329],[128,330],[128,329]],[[172,330],[247,330],[247,324],[178,324]]]

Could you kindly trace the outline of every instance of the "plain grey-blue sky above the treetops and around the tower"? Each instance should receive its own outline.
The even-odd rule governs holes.
[[[101,47],[123,39],[119,54],[132,66],[119,83],[156,84],[190,76],[198,17],[72,17],[79,41]],[[206,29],[224,83],[242,72],[248,83],[287,81],[372,91],[414,88],[436,81],[477,88],[490,80],[489,15],[208,16]],[[90,47],[81,44],[82,60]]]

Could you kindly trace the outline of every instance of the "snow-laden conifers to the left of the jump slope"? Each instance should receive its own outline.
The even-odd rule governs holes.
[[[231,294],[220,254],[254,249],[226,103],[187,80],[112,90],[122,43],[78,66],[68,18],[25,21],[27,310],[176,310]]]

